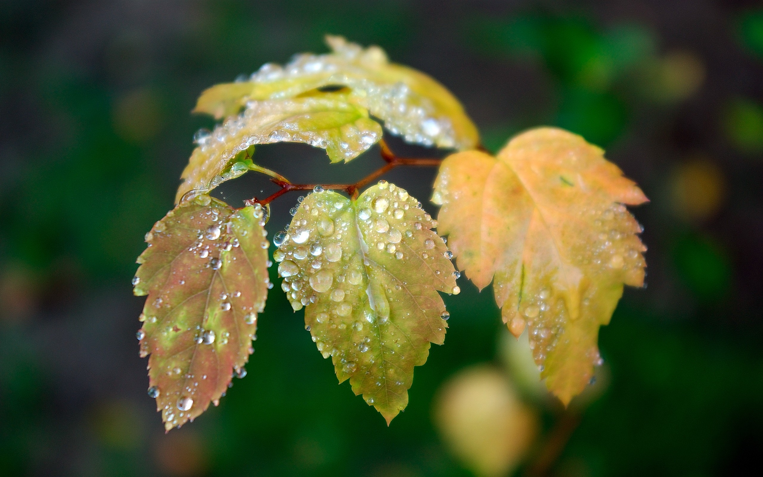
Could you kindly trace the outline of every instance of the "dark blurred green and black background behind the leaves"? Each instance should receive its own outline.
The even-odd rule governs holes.
[[[249,375],[163,432],[146,396],[131,294],[143,234],[172,207],[202,89],[325,33],[378,44],[449,87],[496,150],[555,124],[607,149],[652,199],[636,208],[649,287],[600,333],[610,373],[553,475],[744,475],[763,451],[763,8],[759,2],[0,2],[0,475],[470,475],[432,403],[475,363],[500,369],[490,290],[446,297],[445,346],[391,427],[336,385],[278,287]],[[426,150],[392,142],[397,150]],[[378,152],[328,166],[259,147],[295,181],[352,181]],[[386,179],[428,198],[434,170]],[[272,192],[254,174],[232,204]],[[261,192],[264,191],[264,192]],[[295,196],[274,204],[279,230]],[[434,211],[431,205],[427,205]],[[278,283],[279,280],[274,280]],[[541,419],[533,461],[563,416]],[[554,434],[557,435],[557,434]]]

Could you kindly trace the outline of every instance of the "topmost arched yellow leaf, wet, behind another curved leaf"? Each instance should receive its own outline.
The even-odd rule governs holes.
[[[379,47],[363,49],[343,37],[326,40],[333,53],[299,55],[283,67],[268,63],[249,82],[213,86],[198,99],[195,111],[224,118],[250,100],[291,98],[324,86],[345,85],[353,91],[353,102],[409,142],[460,150],[477,145],[477,128],[439,82],[416,69],[389,63]]]

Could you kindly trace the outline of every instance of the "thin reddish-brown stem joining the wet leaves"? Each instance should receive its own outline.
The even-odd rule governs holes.
[[[355,182],[353,184],[320,184],[320,186],[323,187],[324,189],[344,191],[347,194],[349,194],[351,198],[356,199],[362,187],[364,187],[365,185],[368,185],[373,180],[378,179],[379,177],[385,175],[387,172],[391,171],[391,169],[394,169],[395,167],[398,167],[398,166],[439,166],[440,163],[443,162],[443,160],[441,159],[435,159],[430,157],[424,157],[424,158],[398,157],[395,155],[395,153],[392,152],[392,150],[389,148],[389,146],[383,139],[379,141],[379,147],[381,149],[381,159],[385,160],[385,163],[386,163],[384,166],[381,166],[380,168],[376,169],[374,172],[371,172],[368,176],[365,176],[364,178],[360,179],[358,182]],[[260,172],[265,172],[265,171],[260,171]],[[250,199],[246,199],[246,201],[244,201],[246,205],[255,205],[255,204],[266,205],[274,201],[276,198],[284,195],[286,192],[309,191],[309,190],[313,190],[318,185],[318,184],[292,184],[284,176],[276,174],[275,172],[272,172],[269,169],[267,169],[267,172],[270,172],[268,175],[272,176],[272,179],[270,180],[276,185],[278,185],[281,189],[272,193],[266,198],[258,199],[256,197],[253,197]]]

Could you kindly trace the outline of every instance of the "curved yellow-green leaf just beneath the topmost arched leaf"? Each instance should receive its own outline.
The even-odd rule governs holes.
[[[235,83],[236,85],[240,83]],[[253,144],[299,142],[323,147],[332,162],[349,161],[381,139],[381,126],[343,93],[252,102],[199,140],[175,202],[190,191],[208,192],[246,172],[233,159]]]

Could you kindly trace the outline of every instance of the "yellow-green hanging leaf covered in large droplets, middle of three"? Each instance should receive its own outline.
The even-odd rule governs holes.
[[[318,350],[388,424],[407,405],[414,366],[445,339],[437,292],[460,291],[445,242],[417,204],[387,182],[356,201],[313,193],[274,253]]]

